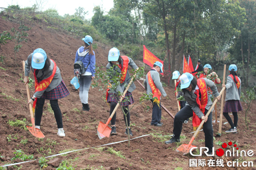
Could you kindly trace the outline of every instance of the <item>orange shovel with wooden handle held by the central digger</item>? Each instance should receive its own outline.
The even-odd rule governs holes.
[[[123,92],[123,96],[125,96],[126,92],[128,91],[128,88],[130,87],[130,85],[132,84],[134,78],[136,77],[136,73],[134,74],[133,78],[130,80],[128,86],[126,87],[125,91]],[[118,106],[120,105],[119,103],[121,103],[123,100],[123,98],[121,97],[119,102],[117,103],[117,105],[115,106],[115,109],[114,111],[112,111],[110,117],[108,118],[108,121],[106,124],[104,124],[103,122],[100,121],[99,123],[99,126],[98,126],[98,129],[97,129],[97,134],[98,134],[98,137],[100,139],[104,138],[104,137],[109,137],[110,135],[110,132],[111,132],[111,128],[108,127],[108,124],[110,122],[110,120],[112,119],[112,117],[114,116],[115,114],[115,111],[117,110]]]

